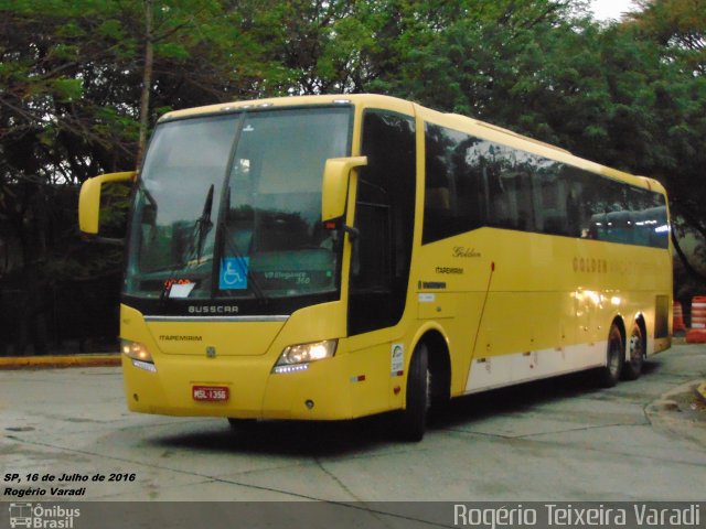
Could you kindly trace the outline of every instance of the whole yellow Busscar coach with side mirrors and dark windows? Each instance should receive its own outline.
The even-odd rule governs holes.
[[[420,440],[450,398],[671,345],[664,188],[376,95],[162,117],[133,198],[120,333],[132,411],[342,420]]]

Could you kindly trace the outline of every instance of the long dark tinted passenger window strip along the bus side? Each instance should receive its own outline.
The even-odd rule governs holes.
[[[668,247],[664,196],[426,123],[422,244],[482,226]]]

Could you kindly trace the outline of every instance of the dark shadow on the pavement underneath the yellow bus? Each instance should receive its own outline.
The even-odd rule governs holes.
[[[657,363],[646,363],[643,377],[659,369]],[[624,384],[624,382],[623,382]],[[516,413],[552,401],[581,395],[595,395],[597,388],[590,371],[523,384],[453,399],[442,413],[432,414],[428,434],[454,429],[503,413]],[[385,413],[354,421],[242,421],[235,427],[221,420],[223,428],[204,432],[169,434],[147,440],[164,449],[197,449],[213,452],[237,452],[286,456],[354,455],[389,445],[396,450],[420,446],[404,443],[395,435],[395,413]]]

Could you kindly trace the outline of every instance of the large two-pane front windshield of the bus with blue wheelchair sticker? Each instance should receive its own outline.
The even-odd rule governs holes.
[[[137,188],[125,292],[278,298],[335,292],[341,234],[321,223],[327,159],[350,107],[242,111],[160,125]]]

